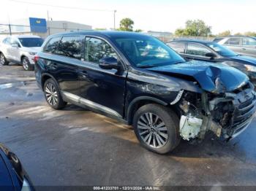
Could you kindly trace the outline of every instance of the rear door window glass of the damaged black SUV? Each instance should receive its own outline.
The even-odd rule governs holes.
[[[56,54],[80,60],[83,38],[83,36],[64,36]]]

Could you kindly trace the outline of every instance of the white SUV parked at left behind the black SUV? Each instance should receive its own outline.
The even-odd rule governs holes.
[[[8,36],[0,43],[0,63],[21,63],[25,70],[34,69],[34,55],[40,50],[43,39],[39,36]]]

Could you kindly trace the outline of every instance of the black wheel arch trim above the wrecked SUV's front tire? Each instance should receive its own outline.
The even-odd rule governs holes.
[[[141,107],[146,104],[159,104],[162,106],[167,106],[167,103],[165,101],[160,100],[159,98],[154,98],[150,96],[140,96],[137,98],[134,98],[128,108],[127,108],[127,122],[129,125],[132,124],[132,119],[135,114],[135,112]]]

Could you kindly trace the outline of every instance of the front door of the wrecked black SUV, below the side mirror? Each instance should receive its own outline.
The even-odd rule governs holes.
[[[84,63],[79,68],[80,96],[95,109],[116,117],[123,116],[124,91],[127,71],[101,69],[99,60],[105,57],[116,58],[124,66],[110,42],[99,37],[86,36]]]

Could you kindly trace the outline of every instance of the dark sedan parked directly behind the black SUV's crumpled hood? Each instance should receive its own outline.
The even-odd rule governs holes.
[[[212,63],[225,63],[243,71],[256,86],[256,58],[238,55],[216,42],[203,40],[176,40],[167,42],[187,60],[208,61]]]

